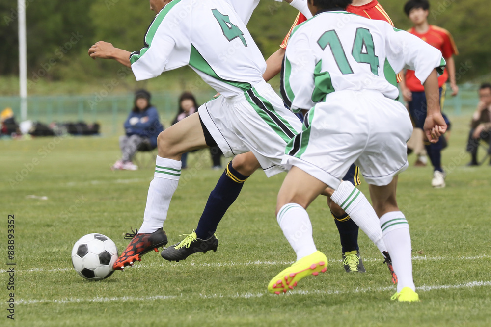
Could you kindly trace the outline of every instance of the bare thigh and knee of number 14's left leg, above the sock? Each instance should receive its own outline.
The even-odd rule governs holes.
[[[292,167],[281,185],[276,202],[276,214],[287,203],[298,203],[307,208],[327,185],[298,167]]]

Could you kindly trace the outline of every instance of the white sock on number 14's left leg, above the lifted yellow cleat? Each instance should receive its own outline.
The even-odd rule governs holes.
[[[283,234],[297,254],[297,261],[317,251],[307,211],[297,203],[281,207],[276,216]]]

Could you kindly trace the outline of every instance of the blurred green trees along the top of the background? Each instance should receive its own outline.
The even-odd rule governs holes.
[[[380,0],[394,24],[411,27],[403,12],[405,1]],[[458,82],[491,71],[491,14],[482,0],[433,0],[430,23],[448,29],[460,50],[456,57]],[[26,0],[27,61],[31,81],[74,79],[87,81],[116,72],[120,65],[104,60],[91,62],[88,48],[98,40],[125,50],[139,50],[155,13],[142,0]],[[0,0],[0,75],[18,74],[17,1]],[[262,0],[248,28],[268,57],[278,49],[293,23],[296,11],[288,4]]]

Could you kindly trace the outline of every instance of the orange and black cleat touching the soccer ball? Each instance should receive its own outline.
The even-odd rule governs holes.
[[[135,229],[132,233],[126,233],[124,238],[131,242],[112,266],[114,270],[124,270],[126,266],[133,266],[136,261],[141,261],[143,254],[152,250],[159,252],[159,248],[167,244],[167,235],[162,228],[153,233],[140,234]]]

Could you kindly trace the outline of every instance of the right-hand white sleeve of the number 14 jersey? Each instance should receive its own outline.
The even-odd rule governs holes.
[[[408,32],[388,24],[386,28],[385,51],[394,71],[413,70],[421,83],[435,68],[438,74],[443,74],[445,60],[438,49]]]

